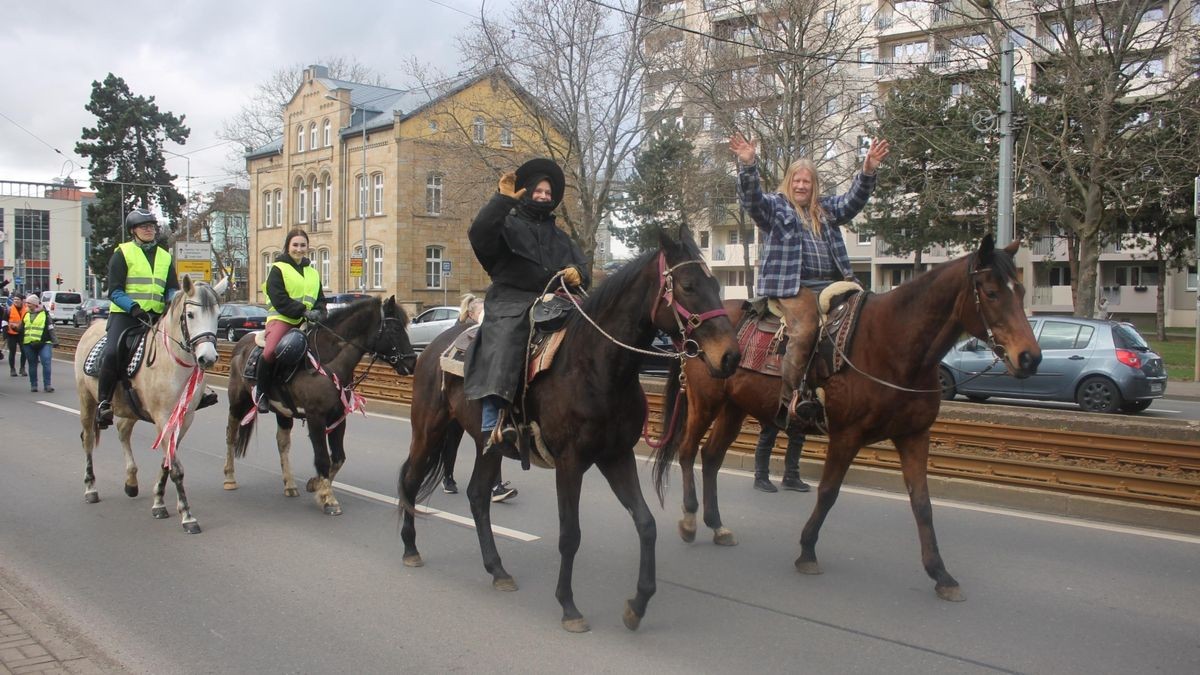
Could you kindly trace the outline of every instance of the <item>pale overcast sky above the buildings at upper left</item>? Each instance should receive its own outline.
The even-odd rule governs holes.
[[[6,1],[0,20],[0,180],[86,181],[76,156],[92,80],[112,72],[161,110],[186,115],[192,133],[193,191],[228,183],[228,144],[216,131],[254,86],[296,62],[354,58],[391,86],[413,84],[402,71],[412,55],[440,72],[460,70],[455,36],[479,16],[481,0],[118,0]],[[488,0],[487,13],[512,0]],[[60,150],[62,154],[55,153]],[[188,162],[168,156],[185,187]]]

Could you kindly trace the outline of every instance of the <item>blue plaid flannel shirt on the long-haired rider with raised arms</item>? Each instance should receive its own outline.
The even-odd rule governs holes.
[[[859,172],[845,195],[821,197],[826,215],[821,219],[821,234],[815,234],[800,223],[782,193],[763,193],[757,165],[742,167],[738,201],[762,231],[755,292],[769,298],[791,298],[800,292],[802,280],[853,276],[841,225],[863,210],[874,189],[875,177]]]

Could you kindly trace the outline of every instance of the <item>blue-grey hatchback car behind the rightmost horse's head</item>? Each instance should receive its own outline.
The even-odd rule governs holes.
[[[1166,393],[1163,359],[1133,325],[1070,316],[1034,316],[1030,323],[1042,347],[1037,375],[1008,375],[992,363],[991,350],[971,338],[942,359],[942,398],[1074,401],[1088,412],[1141,412]]]

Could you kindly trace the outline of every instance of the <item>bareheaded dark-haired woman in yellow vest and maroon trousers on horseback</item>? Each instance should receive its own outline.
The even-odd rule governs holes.
[[[282,253],[275,256],[275,263],[266,273],[263,293],[266,295],[266,346],[263,347],[263,363],[258,368],[258,412],[270,410],[265,392],[271,386],[275,375],[275,347],[288,330],[304,321],[320,321],[325,310],[325,294],[320,289],[320,274],[306,257],[308,253],[308,233],[299,227],[292,228],[283,240]]]

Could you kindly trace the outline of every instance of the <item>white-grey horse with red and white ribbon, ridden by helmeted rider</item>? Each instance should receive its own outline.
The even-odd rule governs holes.
[[[154,518],[167,518],[167,506],[163,494],[167,491],[167,477],[175,484],[175,509],[180,524],[188,534],[198,534],[200,525],[192,515],[184,490],[184,465],[179,460],[176,448],[179,441],[192,425],[204,392],[204,374],[217,363],[216,330],[217,315],[221,312],[220,294],[224,292],[226,280],[216,286],[192,282],[184,275],[179,292],[167,306],[166,313],[154,324],[145,338],[143,363],[133,375],[133,390],[137,393],[140,414],[124,390],[118,384],[113,396],[113,416],[116,422],[116,437],[125,449],[125,494],[138,496],[138,465],[133,461],[133,448],[130,438],[133,425],[142,414],[149,417],[158,430],[154,447],[163,447],[163,462],[158,471],[158,480],[154,486],[154,503],[150,514]],[[92,322],[79,339],[76,347],[74,376],[76,389],[79,392],[79,420],[83,432],[84,501],[96,503],[100,492],[96,490],[96,474],[92,471],[91,453],[100,442],[100,428],[96,426],[96,406],[100,404],[100,381],[95,375],[88,375],[84,366],[92,347],[104,336],[104,323]]]

